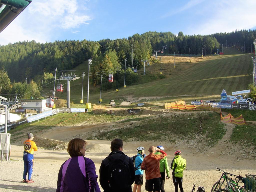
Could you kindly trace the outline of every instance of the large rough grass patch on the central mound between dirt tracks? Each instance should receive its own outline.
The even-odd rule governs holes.
[[[202,122],[202,128],[200,128],[200,122]],[[225,134],[221,128],[223,126],[217,113],[200,113],[197,116],[182,114],[168,118],[150,118],[135,127],[103,131],[97,135],[97,138],[112,140],[118,137],[125,141],[129,141],[131,138],[142,141],[169,141],[170,138],[195,139],[193,135],[198,133],[203,137],[210,138],[209,146],[214,146]]]

